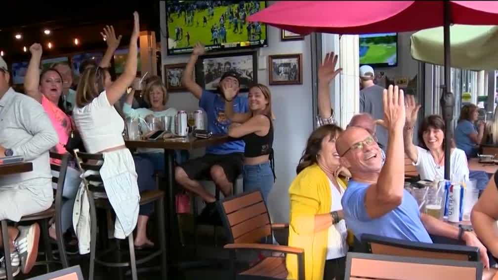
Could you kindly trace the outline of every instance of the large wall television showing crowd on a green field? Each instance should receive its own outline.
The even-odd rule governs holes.
[[[266,24],[246,22],[266,1],[166,1],[168,55],[191,53],[196,42],[206,51],[268,45]]]

